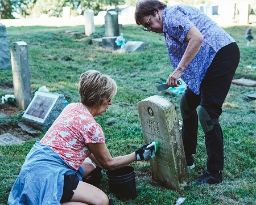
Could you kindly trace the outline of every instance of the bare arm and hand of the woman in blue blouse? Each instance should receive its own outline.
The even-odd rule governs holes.
[[[178,86],[177,80],[180,78],[188,64],[192,61],[193,58],[195,58],[196,54],[199,52],[204,37],[199,31],[199,29],[193,26],[191,29],[189,29],[184,40],[188,42],[188,46],[185,50],[185,53],[181,58],[180,63],[177,66],[177,69],[175,69],[175,71],[168,76],[168,79],[166,81],[168,86],[171,87]]]

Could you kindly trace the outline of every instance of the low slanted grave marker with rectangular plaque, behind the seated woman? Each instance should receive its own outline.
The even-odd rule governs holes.
[[[36,92],[22,119],[26,125],[46,131],[64,109],[64,96],[51,92]]]

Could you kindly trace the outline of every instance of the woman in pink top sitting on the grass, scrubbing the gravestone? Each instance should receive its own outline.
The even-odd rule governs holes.
[[[110,155],[94,117],[106,112],[116,92],[117,84],[108,75],[95,70],[81,75],[81,102],[67,105],[43,139],[34,144],[8,204],[111,204],[103,191],[86,183],[98,180],[92,179],[98,178],[98,167],[113,170],[151,158],[147,144],[129,155]],[[86,157],[98,167],[85,161]]]

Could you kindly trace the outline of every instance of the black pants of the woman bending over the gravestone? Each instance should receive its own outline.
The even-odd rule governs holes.
[[[228,94],[234,72],[240,61],[240,51],[236,44],[226,45],[215,55],[207,69],[200,86],[200,94],[196,95],[187,88],[185,97],[189,106],[190,117],[183,119],[182,138],[186,155],[196,153],[198,116],[197,106],[203,106],[211,119],[218,119],[222,112],[222,104]],[[213,130],[205,134],[207,148],[207,169],[223,170],[224,144],[221,126],[213,126]]]

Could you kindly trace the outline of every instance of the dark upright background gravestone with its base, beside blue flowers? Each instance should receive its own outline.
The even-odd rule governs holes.
[[[108,11],[105,15],[105,37],[102,38],[103,48],[117,50],[115,43],[119,36],[118,14],[115,11]]]

